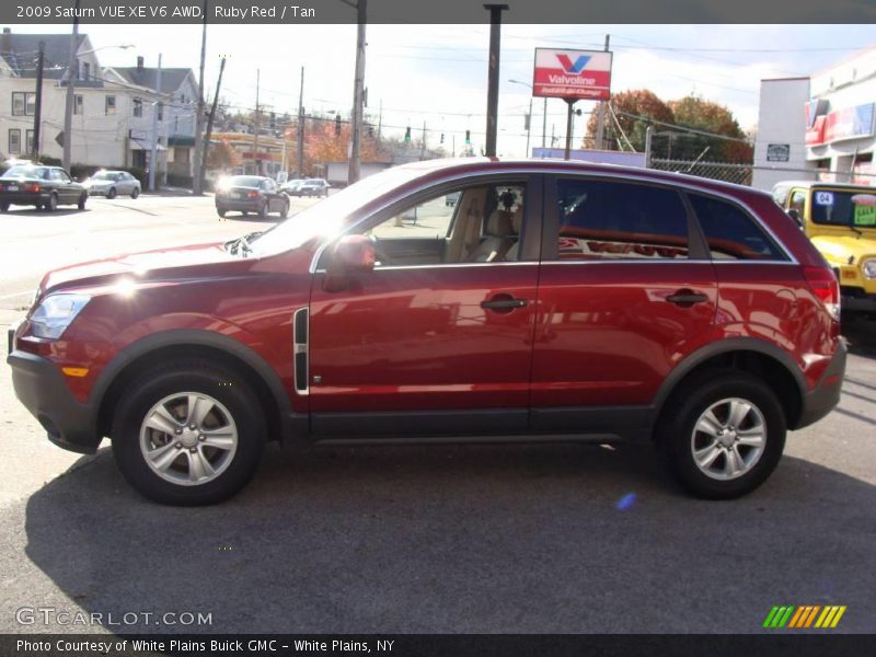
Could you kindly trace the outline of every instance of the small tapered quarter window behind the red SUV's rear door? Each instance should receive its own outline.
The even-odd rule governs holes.
[[[690,195],[693,211],[716,261],[787,261],[787,255],[760,223],[737,205]]]

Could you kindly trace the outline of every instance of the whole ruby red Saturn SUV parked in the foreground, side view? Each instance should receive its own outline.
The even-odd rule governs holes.
[[[224,244],[51,272],[9,364],[50,440],[112,438],[161,503],[228,497],[270,439],[653,441],[728,498],[837,404],[838,320],[835,277],[768,194],[449,160]]]

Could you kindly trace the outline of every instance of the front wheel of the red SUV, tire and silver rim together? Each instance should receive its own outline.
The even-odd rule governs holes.
[[[258,397],[239,376],[193,360],[138,377],[113,422],[119,470],[145,497],[221,502],[252,479],[265,441]]]

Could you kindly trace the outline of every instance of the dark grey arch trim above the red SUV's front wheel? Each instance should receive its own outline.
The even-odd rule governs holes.
[[[283,439],[303,438],[297,436],[297,414],[292,411],[289,395],[286,393],[279,376],[277,376],[277,372],[274,371],[265,359],[252,347],[232,337],[197,328],[174,328],[154,333],[131,343],[116,354],[97,377],[94,388],[89,395],[89,405],[91,405],[94,411],[95,425],[99,419],[97,414],[103,405],[107,391],[129,365],[141,356],[147,355],[149,351],[163,347],[178,346],[211,347],[245,362],[262,378],[277,404],[281,429],[280,437]]]

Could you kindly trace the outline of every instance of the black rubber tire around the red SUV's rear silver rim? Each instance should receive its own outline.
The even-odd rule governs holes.
[[[763,438],[759,456],[756,457],[754,447],[734,441],[736,430],[740,427],[730,425],[729,430],[722,428],[719,438],[713,438],[705,431],[694,433],[701,416],[711,406],[727,401],[716,407],[715,416],[718,416],[724,408],[730,408],[729,400],[741,400],[753,407],[745,416],[744,425],[748,423],[747,426],[751,427],[760,423]],[[727,416],[722,415],[718,419],[724,420],[725,417],[729,424],[731,420]],[[772,474],[782,458],[786,431],[785,413],[770,387],[747,372],[714,369],[685,382],[669,397],[658,420],[655,438],[670,471],[688,492],[705,499],[733,499],[756,489]],[[724,447],[723,440],[731,445]],[[706,466],[713,472],[710,476],[698,465],[693,452],[694,449],[713,449],[713,446],[717,448],[718,456]],[[733,479],[715,479],[726,475],[715,470],[726,472],[725,469],[730,465],[728,460],[731,450],[741,456],[742,463],[750,460],[751,464]]]

